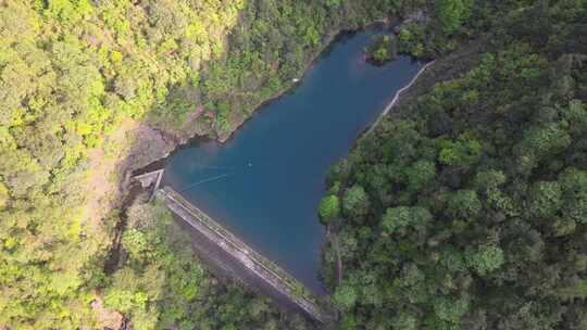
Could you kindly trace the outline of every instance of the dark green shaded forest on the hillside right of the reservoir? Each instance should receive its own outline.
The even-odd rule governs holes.
[[[342,329],[587,328],[587,4],[504,5],[455,30],[485,35],[477,64],[333,168]]]

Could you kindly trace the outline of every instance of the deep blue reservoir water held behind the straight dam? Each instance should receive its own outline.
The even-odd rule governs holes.
[[[326,173],[421,66],[408,58],[365,63],[374,34],[339,37],[296,89],[262,106],[226,143],[196,141],[165,164],[165,185],[316,293],[324,292],[316,210]]]

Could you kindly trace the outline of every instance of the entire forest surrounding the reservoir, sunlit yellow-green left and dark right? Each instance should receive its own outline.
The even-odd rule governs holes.
[[[87,207],[89,178],[128,120],[226,137],[338,30],[397,16],[402,53],[487,47],[333,170],[342,328],[585,329],[582,0],[1,1],[0,328],[314,327],[211,275],[158,205],[104,271],[121,212]]]

